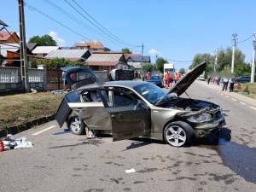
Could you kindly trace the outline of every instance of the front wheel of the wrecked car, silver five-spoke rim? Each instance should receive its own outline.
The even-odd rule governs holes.
[[[182,147],[192,142],[195,137],[193,128],[183,121],[173,121],[164,129],[164,140],[173,147]]]

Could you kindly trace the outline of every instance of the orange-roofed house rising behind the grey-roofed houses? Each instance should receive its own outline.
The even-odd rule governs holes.
[[[88,41],[81,43],[76,43],[73,45],[72,49],[88,49],[90,52],[108,52],[110,49],[104,47],[104,45],[99,41]]]

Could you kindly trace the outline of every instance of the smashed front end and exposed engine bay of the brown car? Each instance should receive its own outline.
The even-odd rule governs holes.
[[[176,97],[162,107],[181,110],[176,118],[189,123],[195,129],[195,137],[208,137],[225,125],[224,113],[212,102]]]

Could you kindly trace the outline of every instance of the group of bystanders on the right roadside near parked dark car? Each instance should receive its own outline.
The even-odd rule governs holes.
[[[222,90],[228,90],[228,87],[229,87],[229,84],[230,84],[230,87],[229,87],[229,90],[230,92],[233,92],[234,91],[234,85],[236,83],[236,78],[235,77],[232,77],[231,79],[229,78],[219,78],[219,77],[211,77],[211,76],[208,76],[208,79],[207,79],[207,83],[210,84],[212,82],[212,84],[217,84],[219,85],[220,83],[223,84],[223,87],[222,87]]]

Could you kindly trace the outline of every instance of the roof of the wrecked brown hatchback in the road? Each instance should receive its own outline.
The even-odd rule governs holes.
[[[144,81],[128,81],[128,80],[125,80],[125,81],[108,81],[108,82],[105,82],[103,84],[87,84],[87,85],[84,85],[82,87],[79,87],[78,90],[84,90],[84,89],[93,89],[93,88],[99,88],[99,87],[102,87],[102,86],[117,86],[117,87],[128,87],[128,88],[133,88],[137,85],[140,85],[140,84],[148,84],[147,82],[144,82]]]

